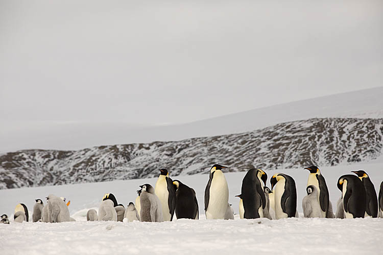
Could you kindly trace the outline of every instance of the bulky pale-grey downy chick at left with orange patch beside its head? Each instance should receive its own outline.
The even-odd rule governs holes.
[[[50,194],[47,198],[49,222],[70,221],[70,215],[66,203],[58,196]]]

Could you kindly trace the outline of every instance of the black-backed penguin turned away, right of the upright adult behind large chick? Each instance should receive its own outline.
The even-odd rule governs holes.
[[[198,201],[193,188],[174,180],[176,188],[176,216],[177,219],[199,219]]]

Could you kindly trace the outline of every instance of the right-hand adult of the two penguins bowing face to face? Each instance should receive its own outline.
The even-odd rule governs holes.
[[[274,191],[275,218],[295,217],[297,212],[297,188],[294,179],[283,173],[276,173],[270,179]]]

